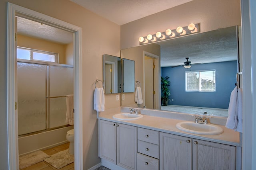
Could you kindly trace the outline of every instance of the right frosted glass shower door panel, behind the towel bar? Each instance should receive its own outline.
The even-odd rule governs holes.
[[[73,68],[48,66],[48,96],[74,94]],[[66,97],[50,98],[48,108],[49,128],[66,125]]]

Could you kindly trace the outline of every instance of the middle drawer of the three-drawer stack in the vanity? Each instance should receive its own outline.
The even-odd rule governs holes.
[[[138,140],[138,152],[159,159],[159,145]]]

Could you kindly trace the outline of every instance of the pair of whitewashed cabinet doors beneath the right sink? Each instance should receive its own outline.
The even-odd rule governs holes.
[[[160,132],[160,170],[235,170],[236,147]]]

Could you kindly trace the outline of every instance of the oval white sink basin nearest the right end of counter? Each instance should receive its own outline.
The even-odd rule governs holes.
[[[176,124],[176,127],[182,131],[200,135],[218,135],[223,133],[223,129],[213,124],[200,124],[193,121],[183,121]]]

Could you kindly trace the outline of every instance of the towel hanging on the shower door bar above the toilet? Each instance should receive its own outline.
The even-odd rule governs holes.
[[[74,125],[74,95],[69,94],[66,97],[66,123],[70,125]]]

